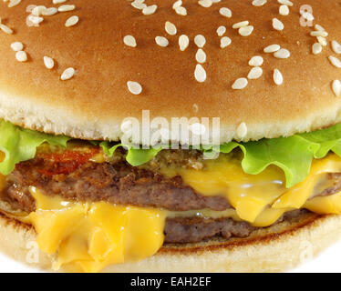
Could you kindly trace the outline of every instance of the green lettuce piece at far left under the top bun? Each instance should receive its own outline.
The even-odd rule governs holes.
[[[51,146],[67,146],[70,138],[63,135],[47,135],[25,129],[0,120],[0,151],[5,153],[0,163],[0,173],[10,174],[15,164],[36,156],[36,147],[47,142]]]

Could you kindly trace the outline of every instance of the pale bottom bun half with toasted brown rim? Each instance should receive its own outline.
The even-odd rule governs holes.
[[[104,272],[280,272],[316,256],[340,235],[341,216],[305,214],[248,238],[165,246],[155,256],[108,266]],[[51,270],[54,256],[34,255],[35,241],[32,226],[0,216],[0,250],[30,266]]]

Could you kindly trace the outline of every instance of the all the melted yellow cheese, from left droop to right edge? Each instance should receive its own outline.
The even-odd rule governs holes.
[[[284,174],[277,167],[270,166],[251,176],[243,172],[240,161],[228,156],[205,161],[203,170],[168,167],[161,172],[166,176],[181,175],[202,195],[225,196],[234,209],[171,212],[104,202],[72,203],[44,196],[30,187],[36,212],[23,220],[35,226],[42,251],[57,253],[56,269],[62,266],[72,272],[98,272],[111,264],[153,256],[163,244],[167,217],[232,217],[253,226],[270,226],[293,209],[341,213],[341,193],[314,197],[330,186],[325,184],[327,173],[341,172],[341,158],[336,155],[315,160],[305,181],[290,189],[285,188]]]

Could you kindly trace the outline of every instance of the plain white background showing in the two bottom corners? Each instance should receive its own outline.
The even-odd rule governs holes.
[[[4,272],[36,273],[39,272],[39,270],[17,263],[14,260],[0,254],[0,273]],[[291,272],[341,272],[341,241],[327,248],[325,252],[321,253],[320,256],[317,256],[314,260],[299,266]]]

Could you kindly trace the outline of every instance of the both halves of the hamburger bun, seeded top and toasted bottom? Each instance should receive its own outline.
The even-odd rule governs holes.
[[[220,143],[290,136],[341,122],[341,99],[332,86],[340,79],[340,68],[328,59],[337,55],[330,45],[313,54],[312,46],[318,42],[311,35],[315,27],[300,23],[304,18],[306,24],[305,17],[309,17],[302,15],[306,1],[294,1],[289,15],[279,15],[276,1],[262,6],[251,0],[229,1],[205,8],[197,0],[188,0],[183,4],[187,15],[172,9],[173,0],[160,1],[151,15],[144,15],[130,2],[102,0],[98,5],[96,1],[74,0],[75,10],[44,16],[37,26],[27,22],[30,2],[22,0],[11,8],[1,2],[1,23],[13,29],[13,34],[0,31],[0,118],[54,135],[119,141],[122,121],[127,117],[141,121],[142,110],[150,110],[150,119],[161,116],[169,123],[172,117],[219,117]],[[36,0],[35,5],[47,5],[47,1]],[[339,41],[340,0],[309,0],[308,6],[314,12],[314,25],[325,27],[320,34],[327,32],[326,40],[320,42]],[[221,15],[222,7],[231,9],[233,16]],[[79,21],[66,27],[72,15],[78,15]],[[278,20],[274,18],[284,25],[283,30],[276,29]],[[251,35],[243,36],[233,28],[242,21],[253,25]],[[176,35],[165,31],[166,22],[177,27]],[[221,25],[226,33],[219,36]],[[126,35],[135,37],[136,47],[124,43]],[[190,40],[183,51],[181,35]],[[203,35],[206,41],[202,50],[207,59],[202,67],[207,76],[200,80],[203,82],[194,74],[198,65],[196,35]],[[157,36],[166,37],[169,44],[157,45]],[[230,37],[232,44],[222,48],[222,36]],[[24,44],[25,62],[15,60],[11,44],[17,41]],[[285,49],[284,58],[280,53],[264,53],[268,45]],[[287,52],[290,57],[285,56]],[[238,78],[249,74],[254,55],[263,57],[263,75],[249,79],[241,90],[233,89]],[[44,56],[55,61],[53,68],[44,64]],[[62,80],[70,67],[75,75]],[[283,84],[275,84],[276,70],[283,75]],[[129,91],[129,81],[141,85],[140,94]],[[247,133],[241,136],[238,128],[243,123]],[[336,241],[340,226],[341,216],[305,214],[260,228],[247,238],[165,245],[155,256],[104,271],[283,271],[302,262],[305,246],[308,254],[315,256]],[[25,262],[30,250],[27,243],[36,240],[36,232],[33,226],[3,213],[0,237],[1,250]],[[40,252],[38,263],[31,265],[50,270],[54,259]]]

